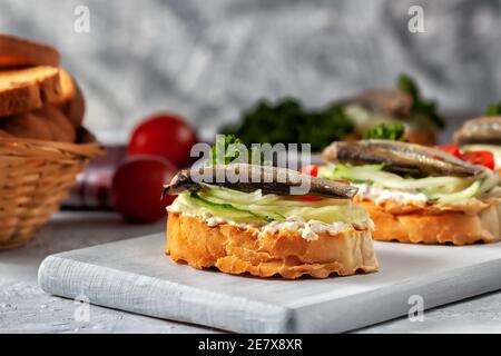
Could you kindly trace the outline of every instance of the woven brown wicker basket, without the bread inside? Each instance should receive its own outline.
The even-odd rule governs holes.
[[[79,134],[81,144],[0,138],[0,250],[27,244],[104,152],[91,134]]]

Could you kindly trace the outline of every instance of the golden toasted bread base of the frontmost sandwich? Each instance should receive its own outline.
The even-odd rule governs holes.
[[[229,224],[209,227],[198,218],[169,212],[167,236],[166,253],[170,258],[198,269],[216,267],[227,274],[281,275],[287,279],[379,269],[370,231],[321,234],[313,241],[288,230],[258,237],[253,229]]]

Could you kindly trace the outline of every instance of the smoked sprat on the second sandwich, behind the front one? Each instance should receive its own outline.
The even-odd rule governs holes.
[[[409,176],[473,177],[484,168],[470,165],[448,152],[421,145],[392,140],[337,141],[324,152],[326,161],[353,165],[379,165],[384,169]]]

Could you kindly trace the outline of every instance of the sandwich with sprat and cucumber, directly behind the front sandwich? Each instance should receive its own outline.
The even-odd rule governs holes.
[[[391,140],[333,142],[320,177],[358,187],[373,237],[466,245],[500,240],[500,177],[442,149]]]

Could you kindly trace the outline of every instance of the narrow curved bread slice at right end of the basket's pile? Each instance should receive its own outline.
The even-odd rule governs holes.
[[[81,126],[86,111],[84,95],[75,78],[66,70],[60,69],[61,93],[53,102],[69,119],[75,128]]]

